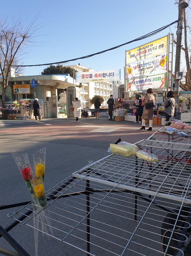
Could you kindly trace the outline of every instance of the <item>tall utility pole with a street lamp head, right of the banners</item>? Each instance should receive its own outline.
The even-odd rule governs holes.
[[[178,5],[178,26],[177,26],[177,40],[176,40],[176,57],[175,57],[175,68],[174,68],[174,99],[178,103],[179,97],[179,85],[180,80],[176,79],[176,73],[180,71],[181,65],[181,47],[182,47],[182,18],[183,18],[183,9],[188,7],[188,2],[186,0],[179,0]]]

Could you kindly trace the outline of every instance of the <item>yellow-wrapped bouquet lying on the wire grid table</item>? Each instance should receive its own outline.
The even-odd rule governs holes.
[[[115,144],[110,144],[108,152],[113,152],[128,157],[137,156],[138,158],[144,159],[145,161],[151,163],[156,163],[158,161],[158,157],[154,154],[151,154],[146,150],[140,150],[138,149],[138,146],[122,141],[121,139],[119,139]]]

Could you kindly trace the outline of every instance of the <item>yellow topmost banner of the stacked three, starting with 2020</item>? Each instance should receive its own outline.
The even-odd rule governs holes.
[[[168,36],[126,51],[126,64],[144,60],[167,52]]]

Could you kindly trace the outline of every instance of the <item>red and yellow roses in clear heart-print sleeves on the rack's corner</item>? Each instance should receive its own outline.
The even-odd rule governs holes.
[[[19,168],[22,178],[24,179],[32,197],[34,213],[33,220],[35,227],[35,249],[37,256],[39,217],[41,219],[42,231],[47,233],[48,226],[53,234],[49,212],[47,211],[47,198],[44,189],[46,148],[42,148],[34,152],[34,169],[31,168],[27,153],[19,154],[13,151],[12,156],[15,159],[17,167]]]

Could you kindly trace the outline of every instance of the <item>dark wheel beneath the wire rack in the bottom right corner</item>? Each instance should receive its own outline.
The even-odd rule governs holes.
[[[180,209],[180,207],[177,209],[174,209],[173,211],[178,214],[179,209]],[[189,211],[190,211],[189,205],[183,206],[181,209],[180,215],[185,216],[187,218]],[[176,226],[175,226],[175,229],[174,229],[174,232],[173,232],[170,244],[169,244],[169,248],[167,250],[167,253],[169,253],[170,255],[173,255],[173,256],[175,256],[178,253],[178,250],[176,250],[175,248],[177,248],[178,242],[182,241],[181,234],[183,232],[183,229],[187,228],[187,231],[185,233],[185,235],[187,237],[189,237],[191,234],[190,225],[188,226],[187,223],[185,223],[186,219],[183,219],[180,215],[178,217],[178,220],[177,220],[177,223],[176,223]],[[162,223],[161,239],[162,239],[162,249],[164,252],[166,251],[167,245],[169,243],[169,238],[172,234],[172,230],[174,228],[176,219],[177,219],[176,214],[168,213]],[[190,223],[191,223],[191,221],[190,221]],[[186,240],[185,236],[184,236],[184,239]],[[172,247],[174,247],[174,248],[172,248]],[[184,256],[190,256],[190,255],[191,255],[191,241],[189,242],[189,244],[184,252]]]

